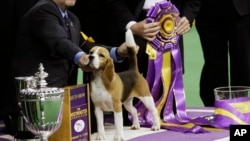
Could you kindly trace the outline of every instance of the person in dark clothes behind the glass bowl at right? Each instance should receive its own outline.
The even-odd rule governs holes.
[[[214,88],[250,86],[250,1],[200,1],[196,18],[204,56],[200,97],[205,106],[214,106]]]

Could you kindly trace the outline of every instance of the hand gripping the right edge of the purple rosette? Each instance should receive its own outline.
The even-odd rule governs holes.
[[[176,25],[176,32],[179,35],[187,33],[191,29],[189,21],[186,17],[181,17],[180,21]]]

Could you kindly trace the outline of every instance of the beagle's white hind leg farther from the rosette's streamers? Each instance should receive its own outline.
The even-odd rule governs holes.
[[[140,123],[138,120],[137,109],[133,106],[133,98],[127,99],[123,103],[123,106],[132,115],[133,123],[132,123],[131,129],[139,129]]]

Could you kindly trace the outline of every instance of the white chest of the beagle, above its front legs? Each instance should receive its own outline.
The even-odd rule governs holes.
[[[111,95],[106,90],[100,77],[91,81],[91,99],[95,106],[104,111],[113,111]]]

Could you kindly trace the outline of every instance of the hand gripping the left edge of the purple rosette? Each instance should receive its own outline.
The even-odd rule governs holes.
[[[130,28],[133,34],[138,35],[147,41],[153,41],[160,31],[158,22],[147,23],[146,20],[140,21]]]

